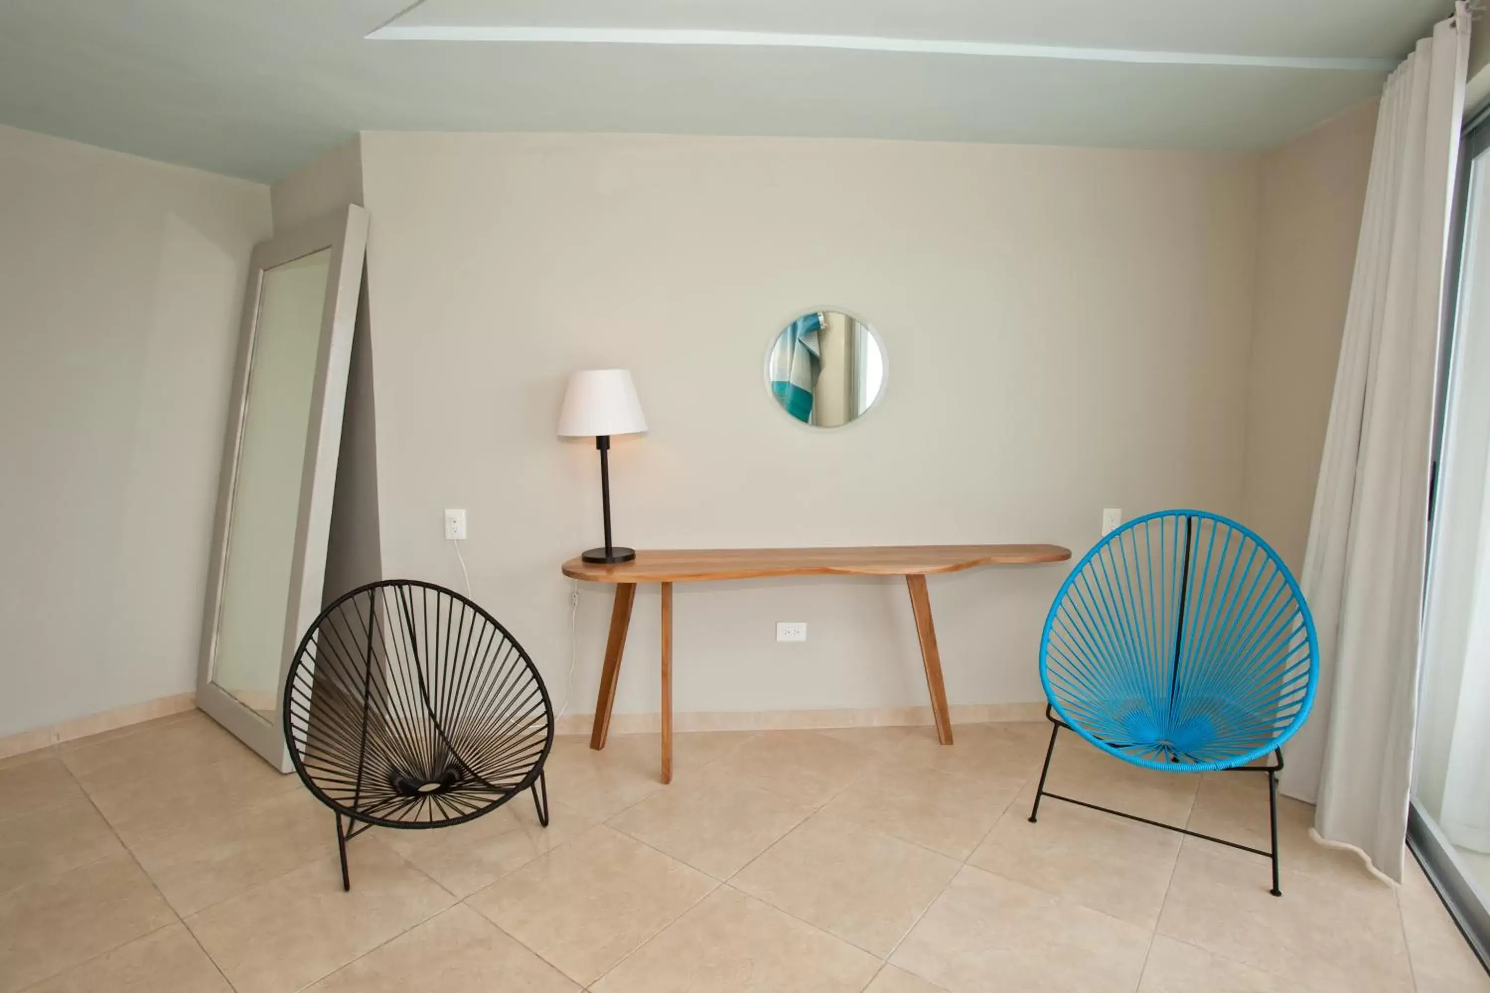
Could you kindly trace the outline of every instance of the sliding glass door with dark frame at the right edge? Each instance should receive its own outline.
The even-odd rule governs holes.
[[[1490,951],[1490,127],[1465,132],[1445,333],[1410,844]]]

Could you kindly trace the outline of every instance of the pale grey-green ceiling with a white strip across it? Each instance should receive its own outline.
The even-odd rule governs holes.
[[[1453,4],[407,6],[0,0],[0,124],[261,182],[280,179],[362,130],[1250,150],[1287,141],[1380,92],[1387,68]],[[380,28],[380,37],[367,37]],[[527,40],[477,40],[492,37]]]

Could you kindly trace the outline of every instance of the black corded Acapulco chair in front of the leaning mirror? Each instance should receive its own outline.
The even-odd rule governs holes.
[[[375,597],[378,593],[389,590],[395,591],[398,603],[399,627],[396,634],[399,637],[395,637],[390,631],[384,630],[384,622],[380,622],[377,618]],[[437,628],[438,624],[441,622],[441,615],[440,615],[441,597],[447,597],[451,604],[459,604],[460,607],[463,607],[463,610],[471,612],[474,615],[469,628],[465,627],[465,615],[462,615],[460,621],[456,622],[456,630],[454,630],[456,637],[453,639],[453,642],[441,645],[441,648],[444,649],[456,646],[459,648],[459,651],[468,654],[459,662],[460,664],[459,671],[462,676],[469,677],[477,674],[478,671],[483,674],[492,673],[489,664],[490,658],[484,661],[472,661],[472,657],[469,655],[472,648],[475,648],[480,652],[486,652],[487,655],[490,654],[493,646],[501,646],[508,649],[504,657],[504,661],[499,662],[499,671],[498,671],[502,683],[499,686],[501,697],[496,703],[486,701],[484,716],[490,716],[493,707],[498,709],[498,712],[502,715],[510,713],[511,709],[516,706],[516,703],[520,700],[516,695],[519,692],[516,686],[519,676],[516,673],[526,671],[530,676],[532,686],[527,688],[526,692],[527,697],[530,697],[532,692],[536,691],[536,695],[541,701],[542,718],[544,718],[544,743],[541,752],[532,761],[532,765],[527,768],[526,774],[516,785],[511,786],[498,785],[483,777],[481,773],[478,773],[474,768],[477,764],[468,762],[466,758],[462,756],[460,747],[457,747],[456,743],[451,741],[450,732],[446,729],[440,716],[435,713],[437,704],[431,700],[432,677],[426,673],[426,667],[429,664],[428,658],[429,651],[428,645],[425,646],[426,651],[423,652],[420,651],[419,627],[414,618],[414,603],[413,603],[414,590],[419,590],[422,593],[422,597],[426,600],[426,613],[425,613],[426,636],[431,631],[428,618],[429,594],[434,594],[437,597],[437,604],[435,604]],[[361,704],[361,719],[358,721],[355,715],[346,715],[346,713],[340,713],[335,715],[334,718],[325,719],[326,724],[334,725],[332,732],[335,735],[340,735],[338,743],[347,749],[347,753],[343,755],[341,758],[350,759],[350,743],[353,738],[356,740],[356,749],[355,749],[356,773],[355,779],[352,780],[350,804],[347,804],[344,802],[344,799],[338,799],[331,794],[328,794],[326,789],[323,788],[323,783],[319,782],[317,777],[311,773],[311,770],[307,768],[305,756],[302,755],[301,747],[298,747],[297,744],[297,734],[299,734],[305,741],[310,740],[310,721],[311,721],[310,713],[313,707],[310,694],[316,685],[314,665],[320,664],[319,652],[313,651],[313,648],[317,645],[316,636],[323,630],[334,631],[335,625],[331,624],[331,618],[338,610],[343,610],[346,603],[355,601],[356,597],[364,594],[368,594],[368,612],[367,612],[365,628],[362,631],[365,648],[361,649],[361,660],[358,662],[359,670],[349,673],[346,662],[341,662],[341,668],[340,671],[337,671],[337,674],[341,677],[353,674],[358,679],[361,679],[362,683],[361,700],[353,701],[353,704]],[[453,616],[454,616],[454,607],[451,606],[450,613],[444,621],[446,636],[451,634],[450,624],[453,621]],[[358,616],[358,619],[359,622],[362,622],[361,615]],[[477,643],[477,639],[472,634],[475,631],[475,625],[478,621],[490,627],[490,640],[483,637],[481,642]],[[387,624],[386,627],[393,628],[395,625]],[[377,634],[378,639],[377,645],[380,645],[384,651],[383,661],[386,662],[387,660],[396,657],[402,665],[410,668],[410,673],[401,673],[407,685],[401,685],[399,688],[402,689],[402,692],[417,697],[419,703],[422,704],[422,713],[416,716],[422,721],[428,721],[429,727],[434,731],[434,737],[423,743],[426,746],[425,753],[419,756],[422,759],[428,759],[428,762],[425,764],[429,765],[429,768],[428,770],[395,768],[393,773],[389,776],[387,792],[401,796],[402,798],[401,801],[393,801],[393,802],[399,804],[405,810],[416,808],[420,805],[423,805],[423,808],[432,810],[437,804],[440,805],[440,810],[444,810],[441,798],[454,799],[456,796],[459,796],[462,805],[471,807],[466,813],[462,813],[459,816],[441,816],[429,819],[398,819],[398,817],[380,816],[378,813],[374,813],[375,807],[364,805],[364,801],[367,799],[364,795],[364,786],[368,785],[367,782],[368,780],[367,767],[370,762],[368,740],[370,740],[370,718],[372,713],[371,704],[375,695],[374,685],[381,686],[384,694],[384,703],[387,703],[389,686],[392,685],[386,671],[380,671],[380,677],[374,679],[374,671],[378,668],[377,652],[374,651],[374,633]],[[440,639],[438,630],[435,631],[435,639],[437,642]],[[389,652],[389,646],[392,646],[393,649],[392,652]],[[340,651],[344,651],[346,645],[341,643],[337,648]],[[302,673],[307,668],[305,665],[307,661],[311,664],[310,665],[311,673],[308,679],[301,679]],[[408,682],[410,674],[413,674],[414,682]],[[417,694],[414,694],[414,688],[417,688]],[[346,689],[346,686],[344,685],[338,686],[338,689]],[[448,692],[448,688],[437,685],[435,695],[440,695],[443,689]],[[402,703],[408,704],[410,701],[405,700]],[[443,703],[447,704],[472,703],[472,700],[468,697],[468,694],[462,692],[454,700],[443,700]],[[529,707],[532,706],[532,703],[535,701],[529,700]],[[352,721],[356,725],[355,728],[353,725],[347,724],[349,716],[352,716]],[[530,713],[529,715],[530,721],[535,719],[535,716],[536,716],[535,713]],[[301,782],[311,792],[311,795],[316,796],[316,799],[319,799],[332,810],[332,814],[335,817],[337,853],[341,859],[341,887],[344,890],[352,889],[350,872],[347,869],[347,843],[352,838],[362,834],[364,831],[367,831],[368,828],[377,826],[377,828],[396,828],[396,829],[429,829],[429,828],[446,828],[457,823],[465,823],[468,820],[474,820],[475,817],[492,813],[493,810],[504,805],[505,802],[508,802],[522,792],[532,794],[533,808],[538,814],[538,822],[544,828],[548,826],[548,783],[545,779],[544,765],[548,759],[548,752],[551,750],[554,740],[554,710],[553,710],[553,703],[548,698],[548,689],[544,685],[542,674],[538,671],[538,667],[533,664],[532,658],[527,655],[523,646],[519,645],[517,639],[514,639],[513,634],[505,627],[502,627],[501,622],[496,621],[496,618],[493,618],[490,613],[481,609],[477,603],[460,596],[459,593],[454,593],[453,590],[447,590],[444,587],[438,587],[429,582],[420,582],[411,579],[393,579],[393,581],[371,582],[364,587],[358,587],[356,590],[352,590],[338,597],[335,601],[332,601],[331,606],[328,606],[320,613],[320,616],[317,616],[316,621],[310,625],[310,630],[305,631],[304,637],[299,642],[299,646],[295,649],[295,657],[289,667],[285,685],[283,729],[285,729],[285,741],[289,746],[291,761],[294,762],[295,771],[299,774]],[[387,743],[380,743],[380,744],[383,752],[386,752]],[[487,738],[480,740],[477,744],[481,746],[480,750],[483,753],[489,753],[493,747],[501,747],[502,741],[499,737],[489,735]],[[374,750],[378,749],[375,747]],[[507,753],[502,755],[505,756]],[[387,755],[381,755],[380,758],[383,758],[384,764],[389,761]],[[407,758],[407,756],[399,756],[399,758]],[[405,762],[405,765],[407,764],[408,762]],[[419,762],[413,764],[417,765]],[[319,767],[319,771],[325,773],[326,768]],[[346,773],[350,770],[341,770],[341,771]],[[480,795],[483,799],[480,802],[472,801],[469,798],[472,794]],[[396,808],[390,807],[389,801],[386,799],[380,805],[386,808],[389,813]]]

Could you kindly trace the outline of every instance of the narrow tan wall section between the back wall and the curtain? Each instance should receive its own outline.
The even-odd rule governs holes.
[[[1369,100],[1262,156],[1246,520],[1304,567],[1371,171]]]

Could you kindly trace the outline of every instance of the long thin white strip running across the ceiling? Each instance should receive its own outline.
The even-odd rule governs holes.
[[[589,28],[516,25],[384,24],[367,36],[390,42],[527,42],[550,45],[706,45],[733,48],[825,48],[855,52],[915,52],[992,58],[1053,58],[1083,63],[1149,66],[1246,66],[1261,68],[1328,68],[1390,71],[1395,58],[1307,58],[1231,55],[1222,52],[1150,52],[1122,48],[1022,45],[1012,42],[952,42],[863,34],[787,34],[779,31],[720,31],[702,28]]]

